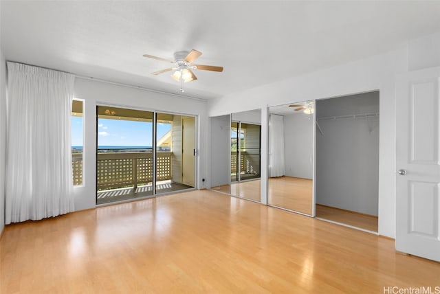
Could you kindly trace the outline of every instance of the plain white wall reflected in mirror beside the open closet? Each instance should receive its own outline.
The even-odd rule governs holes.
[[[287,177],[313,179],[314,115],[284,115],[284,168]]]

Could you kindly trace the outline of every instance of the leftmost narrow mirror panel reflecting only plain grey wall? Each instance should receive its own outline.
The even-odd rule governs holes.
[[[212,190],[230,193],[230,115],[210,117]]]

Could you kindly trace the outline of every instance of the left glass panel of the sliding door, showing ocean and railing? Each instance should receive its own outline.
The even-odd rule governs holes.
[[[97,106],[96,203],[153,195],[153,113]]]

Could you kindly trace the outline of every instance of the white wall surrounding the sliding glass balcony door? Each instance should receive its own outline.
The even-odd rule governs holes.
[[[81,187],[74,188],[75,210],[84,210],[95,207],[96,203],[96,105],[113,105],[131,107],[146,111],[173,112],[188,115],[199,115],[197,128],[199,138],[197,149],[197,188],[203,188],[205,183],[201,179],[206,178],[208,157],[207,133],[208,117],[206,116],[207,104],[204,101],[191,100],[176,95],[166,95],[124,87],[96,80],[76,78],[74,97],[85,100],[85,136],[83,150],[83,169],[85,171]]]

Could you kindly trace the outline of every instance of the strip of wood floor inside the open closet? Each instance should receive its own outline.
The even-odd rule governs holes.
[[[316,217],[377,232],[377,216],[369,216],[367,214],[359,214],[349,210],[340,210],[339,208],[316,204]]]

